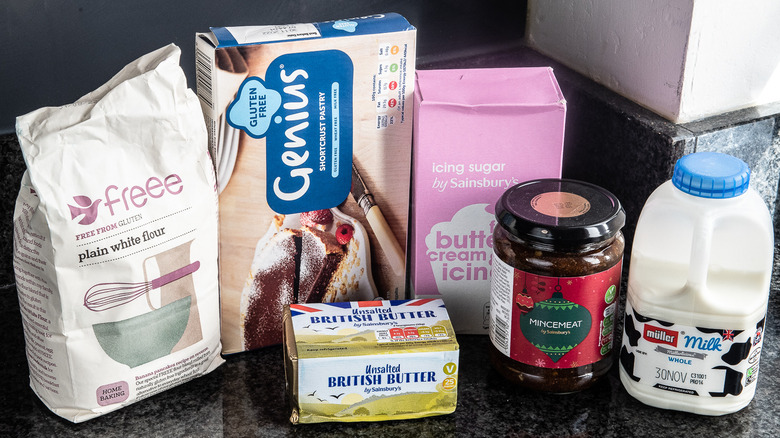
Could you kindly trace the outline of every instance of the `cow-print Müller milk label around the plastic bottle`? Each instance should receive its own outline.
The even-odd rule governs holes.
[[[620,366],[659,390],[738,396],[758,378],[765,319],[748,330],[691,327],[644,317],[626,302]]]

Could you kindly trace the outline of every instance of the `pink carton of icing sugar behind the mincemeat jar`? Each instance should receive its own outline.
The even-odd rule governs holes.
[[[487,334],[495,202],[561,176],[566,101],[547,67],[423,70],[414,105],[412,290]]]

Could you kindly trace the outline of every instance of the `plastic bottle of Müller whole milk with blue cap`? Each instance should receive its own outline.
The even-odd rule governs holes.
[[[620,380],[645,404],[723,415],[753,399],[774,233],[749,181],[742,160],[690,154],[642,209]]]

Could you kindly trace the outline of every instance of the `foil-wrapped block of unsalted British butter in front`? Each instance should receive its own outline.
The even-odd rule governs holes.
[[[284,323],[291,422],[455,411],[459,347],[441,300],[291,304]]]

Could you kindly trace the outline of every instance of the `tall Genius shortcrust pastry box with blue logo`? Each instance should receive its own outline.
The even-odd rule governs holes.
[[[415,37],[398,14],[196,35],[225,353],[281,342],[285,304],[405,296]]]

